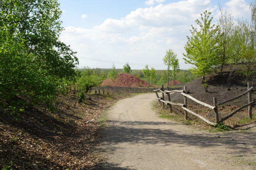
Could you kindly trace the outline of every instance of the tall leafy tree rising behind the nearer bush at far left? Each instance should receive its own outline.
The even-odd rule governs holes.
[[[13,38],[24,39],[28,53],[52,76],[74,77],[78,64],[69,46],[59,41],[61,9],[58,0],[3,0],[0,3],[0,23]]]

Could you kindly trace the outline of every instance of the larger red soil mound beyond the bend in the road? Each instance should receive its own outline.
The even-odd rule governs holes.
[[[113,86],[110,79],[106,79],[101,86]],[[153,87],[149,84],[150,87]],[[147,87],[147,82],[128,73],[119,73],[118,78],[114,82],[114,87]]]

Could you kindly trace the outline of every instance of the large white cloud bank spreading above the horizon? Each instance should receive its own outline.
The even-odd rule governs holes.
[[[150,2],[160,3],[163,0]],[[228,11],[237,10],[241,14],[248,10],[244,0],[230,0],[225,5]],[[67,27],[60,38],[78,52],[82,66],[111,67],[112,63],[86,60],[86,57],[116,61],[117,68],[129,62],[143,65],[131,64],[132,69],[141,69],[146,64],[153,64],[155,69],[165,69],[162,57],[166,50],[173,49],[178,54],[181,68],[187,69],[190,65],[182,59],[186,36],[190,35],[190,25],[195,24],[195,19],[200,18],[205,9],[213,12],[213,16],[218,14],[218,7],[210,0],[182,0],[138,8],[122,19],[106,19],[91,29]]]

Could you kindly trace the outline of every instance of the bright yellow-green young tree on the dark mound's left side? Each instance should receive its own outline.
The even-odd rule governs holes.
[[[211,25],[213,17],[211,13],[205,11],[201,14],[201,20],[195,20],[200,27],[198,31],[193,25],[190,33],[191,37],[187,36],[187,44],[185,45],[186,54],[183,54],[185,63],[195,65],[190,71],[197,75],[203,76],[202,82],[205,81],[205,75],[210,73],[211,68],[219,65],[220,61],[217,55],[219,28],[218,25]],[[209,19],[210,18],[210,19]]]

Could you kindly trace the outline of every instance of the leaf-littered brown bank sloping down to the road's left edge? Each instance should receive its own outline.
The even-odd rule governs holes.
[[[136,91],[138,92],[144,92]],[[58,98],[58,111],[44,105],[26,109],[15,122],[0,115],[0,169],[88,168],[99,161],[92,154],[99,138],[98,119],[104,109],[129,94],[88,94],[82,103],[76,94]],[[86,124],[87,121],[95,119]]]

